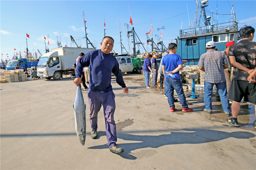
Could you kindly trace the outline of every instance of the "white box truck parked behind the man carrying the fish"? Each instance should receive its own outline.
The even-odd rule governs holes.
[[[74,74],[73,65],[81,52],[84,54],[93,48],[60,47],[45,53],[37,64],[37,76],[46,79],[60,80],[62,74]]]

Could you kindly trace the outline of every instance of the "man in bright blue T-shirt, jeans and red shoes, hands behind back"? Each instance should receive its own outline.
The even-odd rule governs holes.
[[[163,73],[165,73],[165,82],[164,82],[164,89],[165,93],[168,97],[168,103],[170,105],[171,112],[175,111],[175,105],[173,101],[173,92],[174,89],[180,99],[180,103],[182,105],[182,112],[193,112],[193,109],[188,107],[186,103],[186,97],[182,88],[182,82],[180,80],[180,69],[182,69],[182,60],[179,55],[176,54],[177,52],[177,44],[170,43],[169,47],[169,54],[163,58],[162,61],[162,69]],[[172,73],[174,77],[170,77],[167,73]]]

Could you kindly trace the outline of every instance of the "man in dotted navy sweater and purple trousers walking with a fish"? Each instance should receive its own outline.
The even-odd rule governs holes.
[[[108,145],[111,152],[118,154],[124,150],[116,144],[116,123],[114,121],[116,104],[115,94],[111,86],[111,72],[116,76],[116,82],[124,89],[124,93],[128,93],[128,88],[125,86],[116,58],[109,53],[113,49],[114,39],[105,36],[100,46],[101,49],[90,51],[78,60],[74,83],[76,86],[81,84],[83,67],[90,65],[88,102],[90,105],[90,123],[92,127],[91,137],[92,139],[97,138],[98,112],[101,105],[103,105]]]

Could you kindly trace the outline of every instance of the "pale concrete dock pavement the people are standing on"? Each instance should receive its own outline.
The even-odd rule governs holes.
[[[69,76],[1,83],[1,170],[5,169],[255,169],[254,104],[241,103],[240,128],[226,122],[221,102],[187,98],[194,112],[170,112],[164,89],[145,88],[142,74],[123,74],[129,93],[112,79],[121,154],[109,151],[101,107],[92,139],[87,90],[86,140],[76,130],[76,85]],[[151,83],[149,84],[152,85]],[[175,97],[178,99],[177,95]]]

